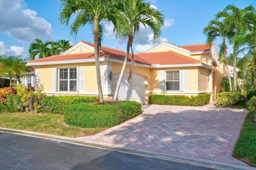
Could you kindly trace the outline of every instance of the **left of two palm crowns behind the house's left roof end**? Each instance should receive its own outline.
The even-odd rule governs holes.
[[[52,41],[42,42],[41,39],[36,38],[34,43],[30,44],[28,53],[30,54],[30,59],[34,60],[36,55],[39,59],[51,56],[51,44]]]

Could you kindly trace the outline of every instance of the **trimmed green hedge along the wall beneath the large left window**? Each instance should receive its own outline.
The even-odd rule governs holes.
[[[39,103],[47,107],[52,114],[63,114],[63,107],[68,104],[92,103],[98,100],[98,96],[48,96]]]

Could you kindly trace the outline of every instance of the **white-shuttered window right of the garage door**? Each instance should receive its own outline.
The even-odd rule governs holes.
[[[179,91],[180,90],[180,71],[166,72],[166,90]]]

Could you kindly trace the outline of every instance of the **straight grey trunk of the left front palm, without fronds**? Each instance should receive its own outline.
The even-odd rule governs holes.
[[[94,55],[95,55],[95,67],[96,67],[96,77],[98,84],[98,92],[100,103],[103,103],[103,93],[102,93],[102,84],[101,84],[101,75],[100,75],[100,57],[99,57],[99,30],[98,30],[98,19],[94,19]]]

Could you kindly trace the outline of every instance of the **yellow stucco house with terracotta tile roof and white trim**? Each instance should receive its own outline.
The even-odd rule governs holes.
[[[125,55],[124,51],[101,47],[102,89],[107,100],[112,100]],[[176,46],[162,42],[134,54],[134,59],[132,82],[127,81],[130,54],[118,100],[144,104],[151,94],[212,94],[212,101],[222,89],[223,69],[214,44]],[[79,41],[61,55],[28,61],[27,65],[35,66],[36,82],[48,95],[98,95],[93,43]]]

